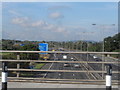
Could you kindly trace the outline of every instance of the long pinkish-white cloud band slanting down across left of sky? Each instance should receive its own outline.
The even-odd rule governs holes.
[[[57,26],[57,25],[54,25],[54,24],[50,24],[50,23],[47,23],[46,21],[43,21],[43,20],[39,20],[39,21],[32,21],[30,20],[28,17],[17,17],[17,18],[13,18],[12,19],[12,23],[13,24],[16,24],[16,25],[19,25],[19,26],[22,26],[22,27],[26,27],[26,28],[39,28],[41,30],[49,30],[49,31],[52,31],[52,32],[65,32],[65,28],[64,27],[60,27],[60,26]]]

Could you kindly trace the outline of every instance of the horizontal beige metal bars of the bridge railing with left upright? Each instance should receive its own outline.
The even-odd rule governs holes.
[[[9,51],[9,50],[1,50],[0,52],[2,53],[5,53],[5,52],[10,52],[10,53],[17,53],[17,55],[19,55],[19,53],[48,53],[48,54],[106,54],[106,55],[109,55],[109,54],[120,54],[119,52],[70,52],[70,51]],[[17,63],[24,63],[24,62],[41,62],[41,63],[80,63],[80,64],[120,64],[119,61],[114,61],[114,62],[106,62],[106,61],[62,61],[62,60],[59,60],[59,61],[55,61],[55,60],[19,60],[20,57],[18,56],[18,59],[17,60],[6,60],[6,59],[1,59],[0,62],[17,62]],[[2,70],[2,69],[0,69]],[[17,81],[24,81],[25,79],[32,79],[34,80],[34,78],[22,78],[22,77],[19,77],[19,73],[20,72],[23,72],[23,71],[26,71],[26,72],[79,72],[79,73],[106,73],[105,70],[45,70],[45,69],[20,69],[20,65],[17,64],[17,69],[15,68],[9,68],[8,71],[15,71],[15,72],[18,72],[17,73],[17,77],[11,77],[13,79],[17,79]],[[118,74],[119,71],[112,71],[112,73],[114,74]],[[9,78],[9,77],[8,77]],[[20,79],[20,80],[19,80]],[[22,79],[22,80],[21,80]],[[45,78],[39,78],[39,80],[63,80],[63,81],[75,81],[75,79],[45,79]],[[12,81],[12,80],[10,80]],[[15,80],[13,80],[15,81]],[[27,81],[27,80],[25,80]],[[105,80],[80,80],[80,81],[105,81]],[[34,82],[34,81],[33,81]],[[118,82],[117,80],[114,80],[114,82]],[[72,82],[71,82],[72,83]]]

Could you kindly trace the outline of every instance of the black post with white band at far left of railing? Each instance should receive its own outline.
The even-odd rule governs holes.
[[[7,90],[7,63],[2,62],[2,89]]]

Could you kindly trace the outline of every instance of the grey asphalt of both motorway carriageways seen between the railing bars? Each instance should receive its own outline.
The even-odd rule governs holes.
[[[94,59],[93,56],[91,55],[87,55],[87,54],[66,54],[67,55],[67,59],[63,59],[63,55],[64,54],[52,54],[51,55],[51,59],[55,60],[55,61],[102,61],[100,58],[96,58]],[[71,59],[73,58],[73,59]],[[80,67],[76,68],[74,67],[73,63],[70,63],[70,66],[65,67],[64,63],[47,63],[42,69],[51,69],[51,70],[86,70],[86,68],[88,70],[102,70],[102,64],[88,64],[84,65],[85,67],[83,67],[83,64],[79,64]],[[118,67],[115,65],[112,65],[113,70],[118,70]],[[45,73],[41,73],[42,75],[40,75],[39,77],[43,77],[43,78],[54,78],[54,79],[95,79],[93,78],[90,74],[88,73],[67,73],[67,72],[45,72]],[[102,78],[101,74],[95,73],[93,74],[93,76],[96,77],[96,79],[100,79]],[[118,80],[118,74],[113,74],[113,79]]]

